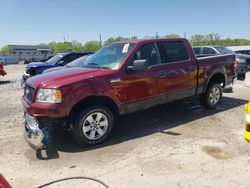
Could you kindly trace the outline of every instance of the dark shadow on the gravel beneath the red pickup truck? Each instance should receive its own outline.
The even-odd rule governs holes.
[[[180,133],[167,131],[167,129],[241,106],[247,102],[247,100],[223,97],[222,103],[214,110],[206,110],[200,106],[198,97],[171,102],[148,110],[121,116],[109,138],[101,144],[79,146],[72,139],[71,135],[59,134],[56,138],[55,148],[57,151],[74,153],[119,144],[156,132],[180,136]]]

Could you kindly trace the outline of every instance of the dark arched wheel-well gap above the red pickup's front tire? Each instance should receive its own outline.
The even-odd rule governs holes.
[[[91,105],[103,105],[111,110],[115,116],[119,114],[118,106],[111,98],[106,96],[91,96],[78,102],[70,111],[69,117],[75,119],[74,117],[79,114],[82,109]]]

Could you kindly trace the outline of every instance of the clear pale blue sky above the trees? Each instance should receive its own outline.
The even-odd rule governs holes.
[[[250,39],[250,0],[0,0],[0,46],[184,32]]]

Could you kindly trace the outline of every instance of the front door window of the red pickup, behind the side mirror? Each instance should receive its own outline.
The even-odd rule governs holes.
[[[155,43],[144,44],[136,51],[134,56],[129,60],[128,66],[131,66],[135,60],[148,60],[148,65],[160,63],[160,56]]]

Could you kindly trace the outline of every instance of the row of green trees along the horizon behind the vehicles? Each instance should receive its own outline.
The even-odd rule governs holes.
[[[179,38],[181,37],[178,34],[168,34],[165,36],[146,36],[144,38]],[[85,44],[78,42],[78,41],[72,41],[72,42],[51,42],[48,45],[52,46],[55,49],[56,53],[61,52],[67,52],[67,51],[74,51],[74,52],[80,52],[80,51],[97,51],[102,46],[114,43],[114,42],[120,42],[120,41],[127,41],[127,40],[137,40],[138,37],[116,37],[116,38],[108,38],[104,41],[103,44],[100,44],[99,41],[88,41]],[[232,39],[232,38],[226,38],[223,39],[221,35],[217,33],[209,33],[207,35],[192,35],[189,38],[189,42],[192,44],[192,46],[204,46],[204,45],[220,45],[220,46],[240,46],[240,45],[250,45],[250,39]],[[11,54],[13,49],[11,49],[10,46],[6,45],[3,46],[0,49],[1,55],[7,55]]]

